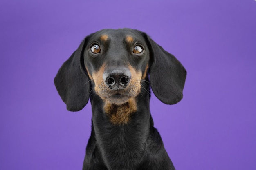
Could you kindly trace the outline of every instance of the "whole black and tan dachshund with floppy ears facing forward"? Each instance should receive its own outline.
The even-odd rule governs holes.
[[[54,83],[67,110],[90,98],[92,131],[83,170],[175,170],[150,114],[150,89],[165,104],[183,97],[186,70],[146,33],[88,35]]]

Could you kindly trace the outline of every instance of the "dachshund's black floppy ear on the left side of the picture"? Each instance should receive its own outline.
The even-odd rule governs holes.
[[[83,48],[85,40],[59,69],[54,84],[67,105],[69,111],[79,111],[87,104],[90,95],[90,83],[83,68]]]

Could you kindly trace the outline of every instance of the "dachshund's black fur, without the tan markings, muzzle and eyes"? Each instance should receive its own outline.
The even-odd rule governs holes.
[[[99,42],[99,36],[105,34],[108,40]],[[131,53],[135,45],[125,41],[127,35],[144,47],[141,55]],[[90,51],[95,42],[101,46],[101,53],[97,55]],[[142,73],[147,65],[149,67],[146,77],[140,81],[137,111],[130,115],[127,124],[112,124],[103,109],[104,99],[94,91],[95,82],[89,75],[99,71],[103,63],[107,63],[107,68],[130,64]],[[186,70],[182,64],[146,33],[133,29],[104,29],[86,37],[54,79],[67,110],[81,110],[89,98],[92,104],[92,132],[83,170],[175,170],[153,127],[150,86],[160,101],[175,104],[183,97],[185,79]]]

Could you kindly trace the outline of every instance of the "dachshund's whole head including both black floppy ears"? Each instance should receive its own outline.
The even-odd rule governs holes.
[[[175,104],[183,97],[185,79],[182,64],[146,33],[103,29],[83,40],[54,83],[67,110],[78,111],[92,90],[110,104],[134,103],[143,82],[150,82],[160,101]]]

